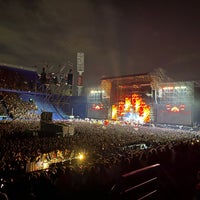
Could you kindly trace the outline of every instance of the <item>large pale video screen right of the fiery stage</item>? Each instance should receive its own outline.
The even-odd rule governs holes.
[[[193,122],[194,83],[160,84],[157,96],[157,123],[191,125]]]

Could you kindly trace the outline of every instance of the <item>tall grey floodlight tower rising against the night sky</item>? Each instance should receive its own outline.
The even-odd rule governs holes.
[[[81,96],[83,89],[83,72],[84,72],[84,53],[82,52],[77,53],[77,72],[78,72],[78,80],[77,80],[78,96]]]

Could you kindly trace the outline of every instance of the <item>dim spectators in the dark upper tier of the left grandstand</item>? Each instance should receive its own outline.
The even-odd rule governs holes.
[[[58,67],[62,68],[61,66]],[[69,69],[68,74],[63,72],[47,73],[45,69],[48,68],[49,66],[46,65],[39,73],[37,66],[34,67],[35,70],[33,71],[0,66],[0,88],[68,95],[69,85],[72,84],[72,80],[69,80],[68,76],[72,74],[73,77],[72,70]]]

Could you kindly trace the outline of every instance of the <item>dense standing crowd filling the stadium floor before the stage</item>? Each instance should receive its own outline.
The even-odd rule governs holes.
[[[198,132],[112,123],[105,126],[90,120],[71,123],[75,132],[64,137],[41,137],[38,121],[0,124],[1,190],[9,200],[67,199],[72,195],[112,199],[112,187],[122,174],[155,163],[161,164],[162,199],[191,199],[195,195],[200,167]],[[82,160],[76,156],[80,152]],[[44,155],[49,161],[52,156],[62,158],[48,168],[27,172],[28,163],[37,163]]]

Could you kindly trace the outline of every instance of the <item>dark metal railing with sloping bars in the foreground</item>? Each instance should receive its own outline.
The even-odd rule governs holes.
[[[123,174],[111,191],[114,200],[159,200],[160,164]]]

